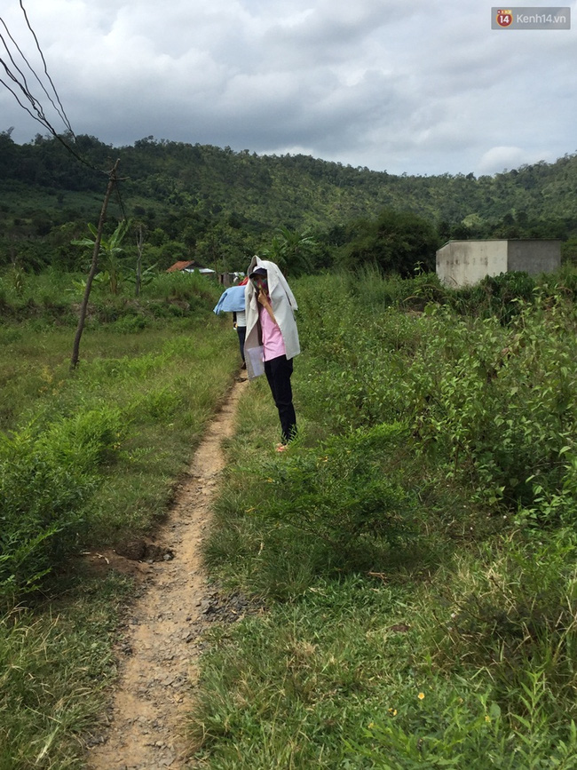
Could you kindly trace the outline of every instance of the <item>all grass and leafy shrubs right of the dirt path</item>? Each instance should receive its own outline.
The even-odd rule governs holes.
[[[211,636],[206,766],[577,766],[567,282],[296,283],[299,439],[251,386],[206,545],[268,606]]]

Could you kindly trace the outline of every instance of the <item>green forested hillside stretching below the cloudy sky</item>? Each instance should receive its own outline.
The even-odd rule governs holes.
[[[494,177],[422,177],[154,137],[130,147],[90,136],[62,139],[69,148],[40,135],[17,145],[10,130],[0,133],[0,266],[80,267],[70,242],[98,218],[116,159],[122,181],[109,226],[124,217],[138,222],[147,261],[161,269],[186,258],[242,269],[278,228],[311,234],[319,246],[312,268],[330,266],[347,257],[352,241],[383,229],[377,222],[384,210],[386,221],[399,212],[416,217],[417,229],[426,223],[434,230],[423,246],[425,265],[448,238],[555,237],[568,242],[566,256],[574,251],[577,155]]]

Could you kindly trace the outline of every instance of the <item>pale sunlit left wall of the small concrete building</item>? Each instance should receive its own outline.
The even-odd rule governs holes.
[[[458,289],[507,271],[507,241],[449,241],[437,252],[441,282]]]

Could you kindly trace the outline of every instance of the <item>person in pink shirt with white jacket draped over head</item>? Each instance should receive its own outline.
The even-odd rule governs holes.
[[[296,436],[296,414],[290,377],[293,359],[300,353],[296,299],[274,262],[253,257],[245,290],[246,337],[244,351],[249,379],[265,373],[281,420],[281,443],[287,449]]]

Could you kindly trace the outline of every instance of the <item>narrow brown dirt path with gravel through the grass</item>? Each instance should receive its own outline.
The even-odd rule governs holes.
[[[246,386],[246,382],[233,385],[154,538],[166,557],[153,563],[132,561],[144,583],[130,608],[128,630],[119,650],[120,679],[109,724],[89,748],[87,767],[91,770],[181,770],[189,766],[183,725],[196,680],[199,635],[213,606],[200,546],[217,477],[225,465],[221,442],[233,434],[237,402]]]

